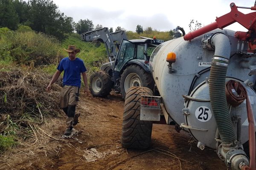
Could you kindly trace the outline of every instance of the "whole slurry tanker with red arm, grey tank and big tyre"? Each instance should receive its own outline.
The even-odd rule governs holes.
[[[231,170],[256,170],[256,12],[231,11],[214,23],[158,45],[149,65],[156,87],[126,93],[123,147],[150,146],[152,123],[189,132]],[[238,22],[247,32],[224,29]],[[255,102],[254,102],[255,101]]]

